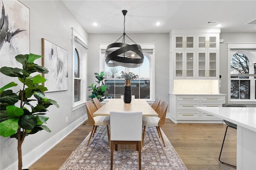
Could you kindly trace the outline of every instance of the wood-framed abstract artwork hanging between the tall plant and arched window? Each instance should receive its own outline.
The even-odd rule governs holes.
[[[42,56],[42,66],[49,70],[43,74],[46,92],[68,90],[68,51],[42,38]]]

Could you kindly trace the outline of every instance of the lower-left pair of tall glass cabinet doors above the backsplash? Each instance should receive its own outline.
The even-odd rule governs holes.
[[[194,51],[175,51],[174,52],[175,64],[174,64],[174,78],[195,78],[196,62]]]

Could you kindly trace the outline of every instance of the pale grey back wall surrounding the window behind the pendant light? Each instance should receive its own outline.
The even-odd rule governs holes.
[[[169,34],[126,34],[137,44],[155,43],[155,97],[162,101],[169,102]],[[99,68],[99,44],[114,43],[122,33],[119,34],[89,34],[89,52],[88,52],[88,86],[95,82],[94,72],[100,72]],[[121,42],[122,40],[118,41]],[[132,43],[128,38],[125,43]]]

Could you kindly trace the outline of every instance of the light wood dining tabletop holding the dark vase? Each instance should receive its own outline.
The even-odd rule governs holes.
[[[122,99],[110,99],[93,115],[110,116],[110,111],[142,111],[142,116],[158,116],[145,99],[132,99],[131,103],[124,103]]]

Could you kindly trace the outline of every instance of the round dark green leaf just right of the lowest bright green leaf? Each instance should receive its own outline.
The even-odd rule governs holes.
[[[37,124],[37,119],[34,115],[22,115],[18,121],[22,129],[31,130]]]

